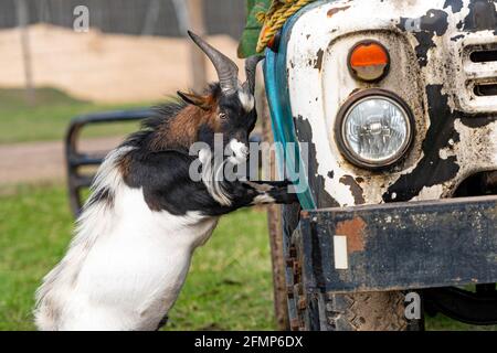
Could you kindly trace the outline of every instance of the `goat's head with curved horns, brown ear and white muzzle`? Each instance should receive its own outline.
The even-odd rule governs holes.
[[[237,162],[248,153],[248,135],[255,127],[255,68],[262,56],[253,56],[245,62],[246,82],[239,81],[239,67],[228,56],[188,32],[193,42],[207,54],[218,72],[219,86],[213,86],[207,95],[178,92],[187,104],[205,111],[208,124],[199,131],[202,141],[212,143],[214,133],[222,133],[224,146],[229,146]]]

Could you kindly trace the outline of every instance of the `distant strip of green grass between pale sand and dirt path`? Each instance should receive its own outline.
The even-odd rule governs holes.
[[[98,111],[133,109],[154,103],[105,105],[78,100],[54,88],[36,89],[35,104],[22,89],[0,89],[0,143],[61,140],[71,118]],[[137,124],[88,127],[83,137],[106,137],[136,130]]]

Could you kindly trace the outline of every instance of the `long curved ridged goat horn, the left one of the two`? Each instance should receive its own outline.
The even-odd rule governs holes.
[[[223,93],[232,94],[239,88],[239,67],[216,49],[193,32],[188,31],[192,41],[207,54],[218,72],[219,84]]]

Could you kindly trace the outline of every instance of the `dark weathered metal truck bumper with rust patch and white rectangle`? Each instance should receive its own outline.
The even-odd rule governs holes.
[[[497,196],[306,211],[293,237],[307,293],[497,282]]]

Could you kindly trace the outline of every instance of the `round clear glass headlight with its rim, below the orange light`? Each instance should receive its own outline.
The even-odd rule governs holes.
[[[353,96],[340,109],[337,137],[347,159],[359,167],[380,168],[401,159],[413,138],[411,110],[382,89]]]

